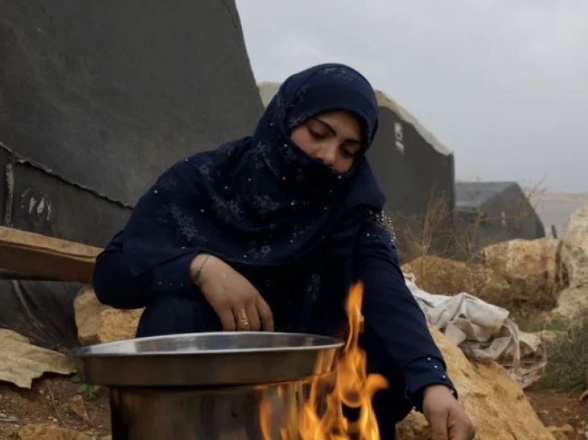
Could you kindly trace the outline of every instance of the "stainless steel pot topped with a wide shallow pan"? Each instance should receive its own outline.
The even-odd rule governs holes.
[[[190,333],[71,351],[83,381],[111,387],[113,440],[279,439],[343,342],[295,333]],[[264,416],[260,414],[264,407]]]

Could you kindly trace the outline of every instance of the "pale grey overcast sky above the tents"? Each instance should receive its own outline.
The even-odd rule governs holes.
[[[257,81],[357,68],[461,179],[588,192],[588,0],[237,0]]]

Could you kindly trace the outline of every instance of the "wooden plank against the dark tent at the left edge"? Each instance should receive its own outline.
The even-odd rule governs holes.
[[[0,226],[0,268],[24,277],[91,283],[101,248]]]

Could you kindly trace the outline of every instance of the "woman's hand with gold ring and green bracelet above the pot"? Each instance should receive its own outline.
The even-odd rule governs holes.
[[[214,255],[196,255],[190,264],[190,275],[199,268],[200,291],[221,318],[224,330],[273,331],[270,307],[243,275]]]

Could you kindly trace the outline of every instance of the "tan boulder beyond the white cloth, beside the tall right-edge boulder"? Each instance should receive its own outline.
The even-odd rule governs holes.
[[[515,239],[486,246],[480,251],[484,266],[506,279],[511,298],[551,309],[558,281],[558,248],[553,238]]]

